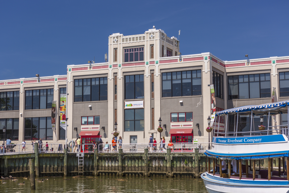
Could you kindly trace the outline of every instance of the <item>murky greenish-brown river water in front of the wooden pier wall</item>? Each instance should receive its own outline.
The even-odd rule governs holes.
[[[18,178],[18,181],[2,180],[1,193],[50,193],[50,192],[207,192],[203,180],[192,178],[127,178],[127,177],[46,177],[43,182],[36,181],[36,190],[31,190],[30,180]],[[42,179],[41,179],[42,180]],[[24,185],[18,185],[23,183]]]

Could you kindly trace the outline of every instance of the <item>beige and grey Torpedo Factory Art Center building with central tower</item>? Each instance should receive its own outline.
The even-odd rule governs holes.
[[[68,141],[81,136],[83,143],[98,141],[100,135],[111,143],[115,123],[123,143],[148,143],[149,135],[157,141],[164,136],[173,142],[208,142],[208,135],[214,135],[205,130],[212,108],[210,84],[214,84],[217,111],[269,103],[273,87],[275,101],[289,96],[289,56],[223,61],[210,52],[185,56],[178,53],[179,41],[163,30],[150,29],[130,36],[116,33],[108,37],[106,63],[68,65],[67,75],[42,77],[40,82],[38,78],[0,81],[1,128],[3,124],[11,128],[12,124],[12,137],[18,129],[16,143],[44,136],[44,129],[47,140],[65,143],[65,130],[59,124],[53,135],[49,126],[42,125],[43,117],[47,123],[51,113],[48,89],[53,89],[53,100],[58,104],[60,93],[66,93],[66,80]],[[17,100],[19,106],[14,106]],[[157,131],[160,118],[162,133]],[[246,132],[250,117],[238,118],[240,132]],[[14,129],[17,119],[18,127]],[[254,117],[254,125],[260,124],[258,119]],[[235,120],[228,117],[228,130],[234,130]],[[217,117],[219,130],[225,130],[226,121],[227,117]],[[288,120],[276,115],[275,121],[278,125]],[[34,128],[37,123],[38,130]],[[3,139],[2,130],[0,137]]]

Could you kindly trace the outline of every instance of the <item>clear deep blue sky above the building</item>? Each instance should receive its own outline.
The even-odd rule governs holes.
[[[0,80],[104,62],[108,36],[181,30],[182,55],[289,56],[289,1],[0,1]]]

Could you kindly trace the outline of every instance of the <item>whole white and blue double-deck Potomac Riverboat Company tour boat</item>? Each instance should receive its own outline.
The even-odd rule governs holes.
[[[271,125],[273,126],[269,126],[272,115],[277,114],[286,114],[286,124],[283,125],[281,120],[280,125],[273,125],[275,122],[272,121]],[[218,132],[215,133],[217,137],[213,137],[212,140],[212,148],[205,152],[209,169],[207,170],[206,167],[206,172],[201,174],[201,178],[208,192],[289,193],[289,175],[286,172],[289,169],[289,164],[286,166],[286,163],[289,163],[289,100],[228,109],[217,112],[216,115],[227,115],[227,121],[225,132],[219,132],[218,126]],[[248,115],[250,115],[251,121],[250,125],[245,128],[246,123],[242,121],[238,123],[240,122],[238,119],[240,119],[239,117],[248,117]],[[265,127],[266,130],[264,127],[255,129],[253,117],[255,116],[256,119],[257,116],[260,116],[262,125],[263,115],[269,120],[267,121],[268,126]],[[284,115],[282,116],[284,117]],[[234,127],[234,131],[228,129],[228,118],[230,118],[231,128]],[[278,168],[273,168],[274,158],[278,163]],[[217,161],[221,163],[223,160],[226,162],[224,168],[229,169],[228,174],[223,174],[221,168],[220,172],[216,172]],[[236,173],[231,173],[232,160],[236,160],[238,165],[239,171]],[[260,168],[260,162],[263,160],[264,163],[268,161],[268,170]],[[259,167],[256,167],[257,163]],[[283,170],[281,170],[281,165]],[[210,168],[213,170],[210,171]]]

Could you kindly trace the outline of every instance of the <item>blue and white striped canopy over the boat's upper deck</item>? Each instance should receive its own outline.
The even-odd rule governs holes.
[[[251,111],[253,111],[254,115],[268,115],[270,111],[270,115],[276,115],[278,113],[286,113],[288,112],[289,100],[273,102],[261,105],[248,105],[241,106],[233,109],[227,109],[224,111],[219,111],[216,113],[217,116],[224,116],[227,114],[237,114],[239,115],[249,115]]]

